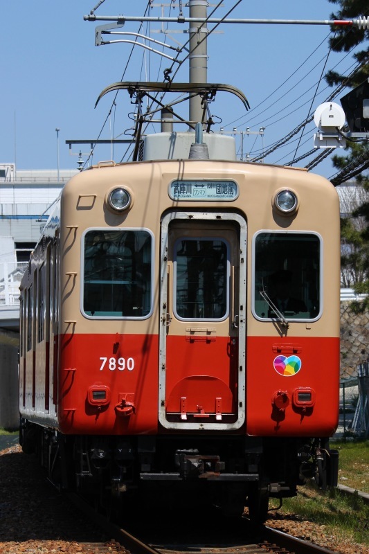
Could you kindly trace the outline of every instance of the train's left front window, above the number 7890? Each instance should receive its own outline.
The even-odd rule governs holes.
[[[128,319],[150,315],[152,235],[137,229],[93,229],[83,240],[84,314]]]

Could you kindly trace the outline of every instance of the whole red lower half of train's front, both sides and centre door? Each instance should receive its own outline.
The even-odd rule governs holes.
[[[189,345],[182,351],[180,343],[169,344],[168,410],[180,411],[186,398],[192,413],[199,406],[204,413],[235,411],[237,356],[232,350],[223,341],[217,348],[199,343],[193,352]],[[64,335],[60,429],[66,434],[155,434],[158,358],[156,335]],[[249,337],[246,360],[247,434],[334,433],[339,415],[338,338]]]

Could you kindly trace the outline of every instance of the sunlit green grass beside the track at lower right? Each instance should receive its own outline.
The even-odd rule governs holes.
[[[339,483],[368,492],[369,441],[340,441],[331,447],[339,450]],[[369,503],[358,494],[343,494],[336,488],[321,491],[312,481],[298,488],[297,497],[285,499],[280,513],[325,526],[327,535],[339,540],[369,545]]]

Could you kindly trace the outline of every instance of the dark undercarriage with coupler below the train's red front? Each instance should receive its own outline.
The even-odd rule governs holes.
[[[267,519],[269,498],[296,495],[315,478],[336,486],[338,453],[328,440],[208,435],[66,436],[21,421],[20,443],[60,488],[77,489],[109,512],[134,506],[216,506],[226,516]],[[191,508],[192,506],[192,508]]]

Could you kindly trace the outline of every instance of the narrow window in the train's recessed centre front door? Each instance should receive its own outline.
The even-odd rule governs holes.
[[[174,313],[179,319],[228,315],[228,246],[214,238],[181,238],[174,250]]]

